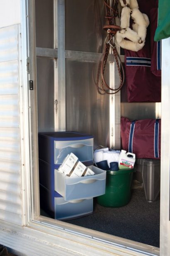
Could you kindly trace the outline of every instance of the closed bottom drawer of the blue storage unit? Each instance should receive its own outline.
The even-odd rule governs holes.
[[[63,197],[55,197],[55,219],[74,219],[82,215],[92,214],[93,199],[65,201]]]

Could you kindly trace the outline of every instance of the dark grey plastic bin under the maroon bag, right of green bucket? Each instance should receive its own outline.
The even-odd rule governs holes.
[[[143,182],[146,200],[153,202],[160,194],[160,159],[137,158],[134,179]]]

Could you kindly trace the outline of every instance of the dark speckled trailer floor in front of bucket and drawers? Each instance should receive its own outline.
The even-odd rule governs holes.
[[[107,208],[94,200],[93,214],[65,222],[159,247],[160,199],[149,203],[143,188],[132,189],[126,206]]]

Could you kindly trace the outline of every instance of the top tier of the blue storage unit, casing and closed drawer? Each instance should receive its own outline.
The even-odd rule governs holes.
[[[93,136],[79,132],[40,132],[39,159],[50,164],[62,164],[73,153],[80,162],[93,160]]]

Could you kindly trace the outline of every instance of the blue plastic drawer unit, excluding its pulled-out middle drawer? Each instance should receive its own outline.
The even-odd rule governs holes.
[[[39,188],[41,210],[52,218],[75,218],[92,213],[92,196],[89,200],[73,204],[64,201],[54,189],[54,170],[73,152],[86,166],[93,164],[93,136],[79,132],[39,133]],[[75,202],[75,201],[74,201]]]

